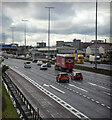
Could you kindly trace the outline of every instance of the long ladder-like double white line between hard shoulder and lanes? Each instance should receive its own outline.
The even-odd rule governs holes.
[[[41,85],[39,85],[37,82],[35,82],[32,79],[30,79],[25,74],[21,73],[20,71],[17,71],[16,69],[14,69],[12,67],[10,67],[10,68],[12,70],[14,70],[16,73],[20,74],[22,77],[26,78],[26,80],[28,80],[31,84],[33,84],[34,86],[36,86],[39,90],[41,90],[42,92],[44,92],[46,95],[48,95],[50,98],[52,98],[53,100],[55,100],[57,103],[59,103],[64,108],[66,108],[68,111],[70,111],[72,114],[74,114],[79,119],[83,118],[83,119],[86,119],[86,120],[90,120],[89,117],[87,117],[86,115],[84,115],[83,113],[81,113],[80,111],[78,111],[77,109],[75,109],[74,107],[72,107],[71,105],[69,105],[68,103],[66,103],[65,101],[63,101],[59,97],[57,97],[56,95],[54,95],[50,91],[48,91],[45,88],[43,88]]]

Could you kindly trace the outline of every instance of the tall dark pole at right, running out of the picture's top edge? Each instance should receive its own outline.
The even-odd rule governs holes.
[[[96,0],[96,27],[95,27],[95,69],[97,69],[97,0]]]

